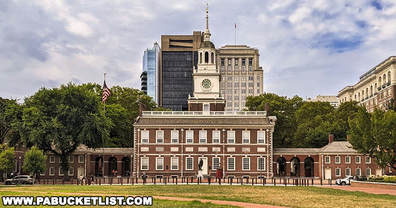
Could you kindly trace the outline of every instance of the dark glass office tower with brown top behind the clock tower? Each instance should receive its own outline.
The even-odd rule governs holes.
[[[187,99],[193,94],[193,67],[197,67],[202,34],[161,36],[161,102],[172,110],[188,110]]]

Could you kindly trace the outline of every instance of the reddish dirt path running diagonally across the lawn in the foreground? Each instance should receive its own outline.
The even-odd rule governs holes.
[[[21,191],[21,190],[14,190],[14,189],[1,189],[1,191],[16,191],[16,192],[23,192],[23,193],[40,193],[40,194],[48,194],[48,192],[42,191]],[[119,194],[95,194],[95,193],[66,193],[66,192],[52,192],[51,194],[59,194],[59,195],[78,195],[78,196],[128,196],[128,195],[119,195]],[[136,197],[136,196],[133,196]],[[213,203],[218,205],[231,205],[231,206],[238,206],[243,208],[286,208],[286,207],[279,207],[279,206],[271,206],[271,205],[260,205],[260,204],[252,204],[252,203],[245,203],[245,202],[233,202],[233,201],[221,201],[221,200],[205,200],[205,199],[191,199],[191,198],[178,198],[178,197],[162,197],[162,196],[152,196],[154,199],[160,200],[172,200],[172,201],[199,201],[202,203]]]

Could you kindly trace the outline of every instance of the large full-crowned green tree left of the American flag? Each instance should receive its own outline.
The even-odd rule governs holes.
[[[109,137],[111,120],[99,110],[97,94],[72,83],[40,88],[25,99],[22,140],[27,147],[37,146],[60,157],[64,172],[69,170],[68,156],[77,147],[102,147]],[[65,174],[68,180],[68,174]]]

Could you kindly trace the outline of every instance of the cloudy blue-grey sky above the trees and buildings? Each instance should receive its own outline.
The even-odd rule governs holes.
[[[396,55],[395,0],[1,0],[0,97],[103,83],[140,89],[161,35],[209,29],[216,47],[258,48],[264,92],[337,95]]]

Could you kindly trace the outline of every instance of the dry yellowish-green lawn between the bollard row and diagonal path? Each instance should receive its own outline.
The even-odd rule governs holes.
[[[19,186],[0,187],[3,191],[15,191],[20,196],[64,196],[73,193],[132,196],[170,196],[193,199],[225,200],[296,208],[335,208],[335,207],[395,207],[396,196],[376,195],[364,192],[350,192],[320,187],[283,186],[219,186],[219,185],[123,185],[123,186]],[[5,189],[5,190],[4,190]],[[28,191],[29,193],[26,193]],[[153,203],[165,203],[154,201]],[[166,202],[170,203],[170,202]],[[172,201],[173,203],[173,201]],[[178,204],[178,202],[175,202]],[[160,206],[160,205],[159,205]],[[164,204],[165,207],[171,206]],[[176,205],[175,205],[176,206]],[[180,206],[183,205],[180,203]],[[196,207],[208,206],[197,203]],[[208,206],[211,207],[212,205]],[[173,205],[172,205],[173,207]]]

